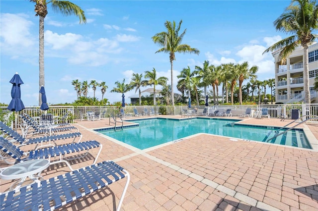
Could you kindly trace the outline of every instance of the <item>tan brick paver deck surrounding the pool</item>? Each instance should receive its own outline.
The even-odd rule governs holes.
[[[290,121],[244,118],[242,123],[284,126]],[[137,150],[92,130],[109,127],[108,118],[77,120],[74,125],[82,141],[97,140],[103,145],[98,161],[114,160],[130,173],[123,211],[318,210],[317,146],[307,150],[201,133]],[[318,124],[300,127],[309,130],[311,142],[317,144]],[[72,167],[91,164],[97,151],[73,160]],[[48,179],[68,171],[65,164],[56,164],[41,175]],[[122,179],[60,210],[116,210],[125,182]],[[10,184],[1,179],[0,192]]]

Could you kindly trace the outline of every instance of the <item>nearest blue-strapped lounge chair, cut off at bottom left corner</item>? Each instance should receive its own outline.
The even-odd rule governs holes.
[[[117,211],[130,181],[129,173],[113,161],[102,161],[0,194],[1,210],[54,210],[127,177]],[[115,202],[115,199],[113,200]],[[114,205],[115,207],[115,205]]]

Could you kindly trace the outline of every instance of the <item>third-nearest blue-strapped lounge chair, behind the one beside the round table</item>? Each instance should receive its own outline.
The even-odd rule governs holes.
[[[62,139],[69,139],[69,138],[74,138],[73,142],[75,142],[76,138],[79,137],[79,141],[82,138],[82,135],[80,133],[66,133],[66,134],[61,134],[61,135],[53,135],[53,136],[43,136],[43,137],[37,137],[37,138],[31,138],[31,139],[25,139],[23,136],[18,134],[16,131],[14,131],[12,128],[4,124],[2,121],[0,121],[0,130],[19,142],[20,146],[21,145],[29,145],[29,144],[41,144],[40,147],[45,147],[45,146],[54,146],[51,144],[51,141],[54,142],[55,146],[57,145],[55,143],[56,140],[62,140]],[[79,143],[78,141],[78,143]],[[46,145],[43,145],[43,143],[49,142]],[[37,145],[38,146],[38,145]],[[35,147],[35,150],[37,149],[37,146]]]

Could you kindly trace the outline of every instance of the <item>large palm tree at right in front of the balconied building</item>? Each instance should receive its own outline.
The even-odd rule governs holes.
[[[284,13],[274,21],[274,26],[277,31],[293,35],[275,43],[264,53],[281,49],[280,56],[286,58],[298,45],[304,48],[305,104],[310,104],[308,47],[318,38],[317,34],[312,33],[318,29],[318,4],[316,4],[316,0],[292,0]]]

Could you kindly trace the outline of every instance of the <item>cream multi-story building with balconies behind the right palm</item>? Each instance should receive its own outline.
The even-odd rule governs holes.
[[[304,92],[304,50],[299,46],[286,59],[279,58],[279,51],[272,53],[275,58],[275,97],[276,103],[291,104],[305,99]],[[318,103],[318,94],[314,90],[318,77],[318,43],[308,48],[309,87],[311,103]]]

